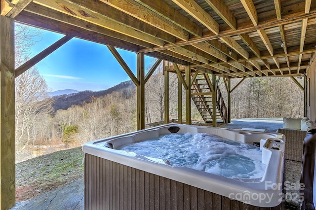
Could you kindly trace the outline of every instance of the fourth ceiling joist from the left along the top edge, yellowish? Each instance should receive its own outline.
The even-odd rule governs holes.
[[[183,10],[192,15],[198,22],[203,24],[208,30],[214,34],[219,34],[219,25],[218,23],[204,10],[202,9],[197,2],[194,0],[172,0]]]

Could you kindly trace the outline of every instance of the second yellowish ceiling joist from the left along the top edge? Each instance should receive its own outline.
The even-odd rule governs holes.
[[[142,6],[134,0],[101,0],[103,3],[111,5],[118,10],[131,15],[147,24],[150,24],[168,34],[171,34],[179,39],[187,41],[189,39],[189,33],[179,26],[161,18],[158,14],[152,10]]]

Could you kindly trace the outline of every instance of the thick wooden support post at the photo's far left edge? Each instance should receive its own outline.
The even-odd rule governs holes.
[[[15,206],[14,19],[0,16],[0,208]]]

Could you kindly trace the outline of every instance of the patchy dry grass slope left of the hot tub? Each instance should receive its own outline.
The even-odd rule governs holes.
[[[16,164],[16,200],[23,201],[83,178],[82,147]]]

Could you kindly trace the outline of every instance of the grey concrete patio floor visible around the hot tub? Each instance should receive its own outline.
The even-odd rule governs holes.
[[[269,119],[234,119],[231,123],[220,126],[232,129],[255,128],[265,129],[266,132],[276,132],[283,126],[281,118]],[[286,164],[286,163],[285,163]],[[286,164],[287,165],[287,164]],[[300,164],[294,163],[289,169],[290,176],[286,179],[298,180],[300,175]],[[83,180],[68,183],[60,188],[40,194],[27,201],[17,202],[11,210],[83,210]],[[290,208],[292,209],[292,208]]]

